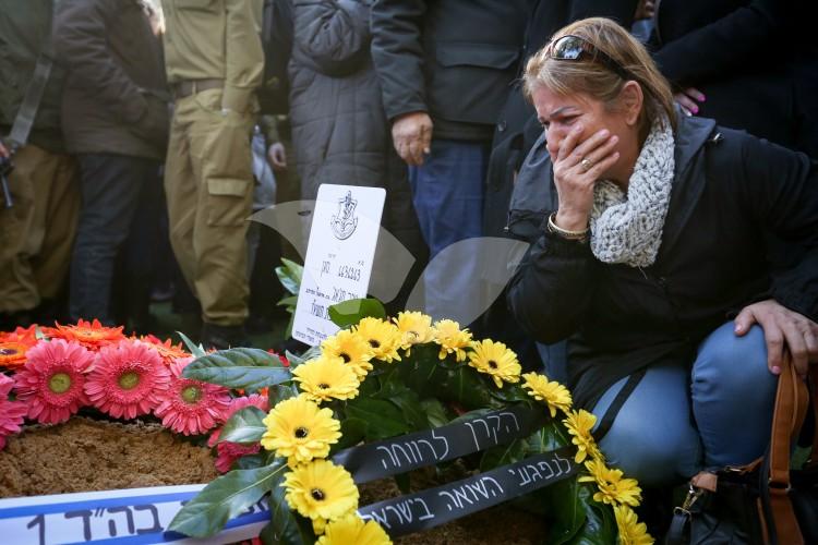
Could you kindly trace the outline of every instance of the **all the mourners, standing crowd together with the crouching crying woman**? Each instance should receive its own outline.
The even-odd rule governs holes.
[[[655,3],[0,0],[0,329],[149,328],[172,283],[205,346],[243,344],[281,246],[249,235],[260,189],[380,186],[404,298],[455,242],[531,244],[471,327],[614,407],[613,463],[746,463],[784,354],[818,361],[814,19]],[[473,268],[424,276],[425,311]]]

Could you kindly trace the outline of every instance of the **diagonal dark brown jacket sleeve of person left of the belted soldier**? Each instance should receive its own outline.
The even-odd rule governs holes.
[[[127,123],[136,123],[147,112],[147,101],[111,59],[106,39],[106,22],[120,8],[117,0],[58,3],[53,46],[72,76],[93,89],[103,108]]]

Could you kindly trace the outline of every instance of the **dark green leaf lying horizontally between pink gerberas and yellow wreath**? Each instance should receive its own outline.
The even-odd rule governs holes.
[[[203,355],[184,367],[182,376],[248,391],[292,378],[278,356],[256,348],[232,348]]]

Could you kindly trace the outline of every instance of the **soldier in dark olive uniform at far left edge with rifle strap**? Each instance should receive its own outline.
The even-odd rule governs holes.
[[[0,0],[0,136],[11,132],[50,35],[51,0]],[[11,203],[0,196],[0,330],[48,323],[63,287],[80,209],[76,161],[60,132],[63,71],[51,66],[28,142],[13,157]],[[10,155],[0,142],[0,157]],[[38,315],[33,310],[39,305]]]

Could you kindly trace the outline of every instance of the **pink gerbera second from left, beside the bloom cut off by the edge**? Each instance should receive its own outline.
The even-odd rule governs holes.
[[[14,375],[17,400],[28,405],[28,417],[59,424],[88,404],[83,391],[94,354],[76,341],[39,342],[26,352],[26,364]]]

